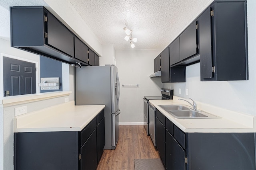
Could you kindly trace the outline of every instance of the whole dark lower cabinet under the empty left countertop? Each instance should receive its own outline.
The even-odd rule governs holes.
[[[14,170],[93,170],[105,145],[102,110],[82,131],[14,133]]]

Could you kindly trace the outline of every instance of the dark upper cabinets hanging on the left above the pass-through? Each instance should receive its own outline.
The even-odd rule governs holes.
[[[68,64],[88,65],[87,46],[43,6],[10,7],[10,28],[11,47]],[[95,65],[95,59],[91,62]]]

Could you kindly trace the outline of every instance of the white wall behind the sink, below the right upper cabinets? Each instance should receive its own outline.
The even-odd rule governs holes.
[[[197,63],[186,67],[186,83],[164,83],[164,87],[173,88],[175,96],[256,115],[256,1],[248,0],[247,7],[249,80],[200,82],[200,63]]]

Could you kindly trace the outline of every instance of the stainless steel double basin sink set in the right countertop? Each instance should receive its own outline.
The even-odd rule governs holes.
[[[204,111],[194,110],[185,105],[159,105],[176,119],[220,118]]]

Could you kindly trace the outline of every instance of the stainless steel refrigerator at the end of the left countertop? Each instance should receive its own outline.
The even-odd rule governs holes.
[[[76,68],[76,105],[106,106],[104,149],[115,149],[118,141],[119,96],[120,82],[115,65]]]

